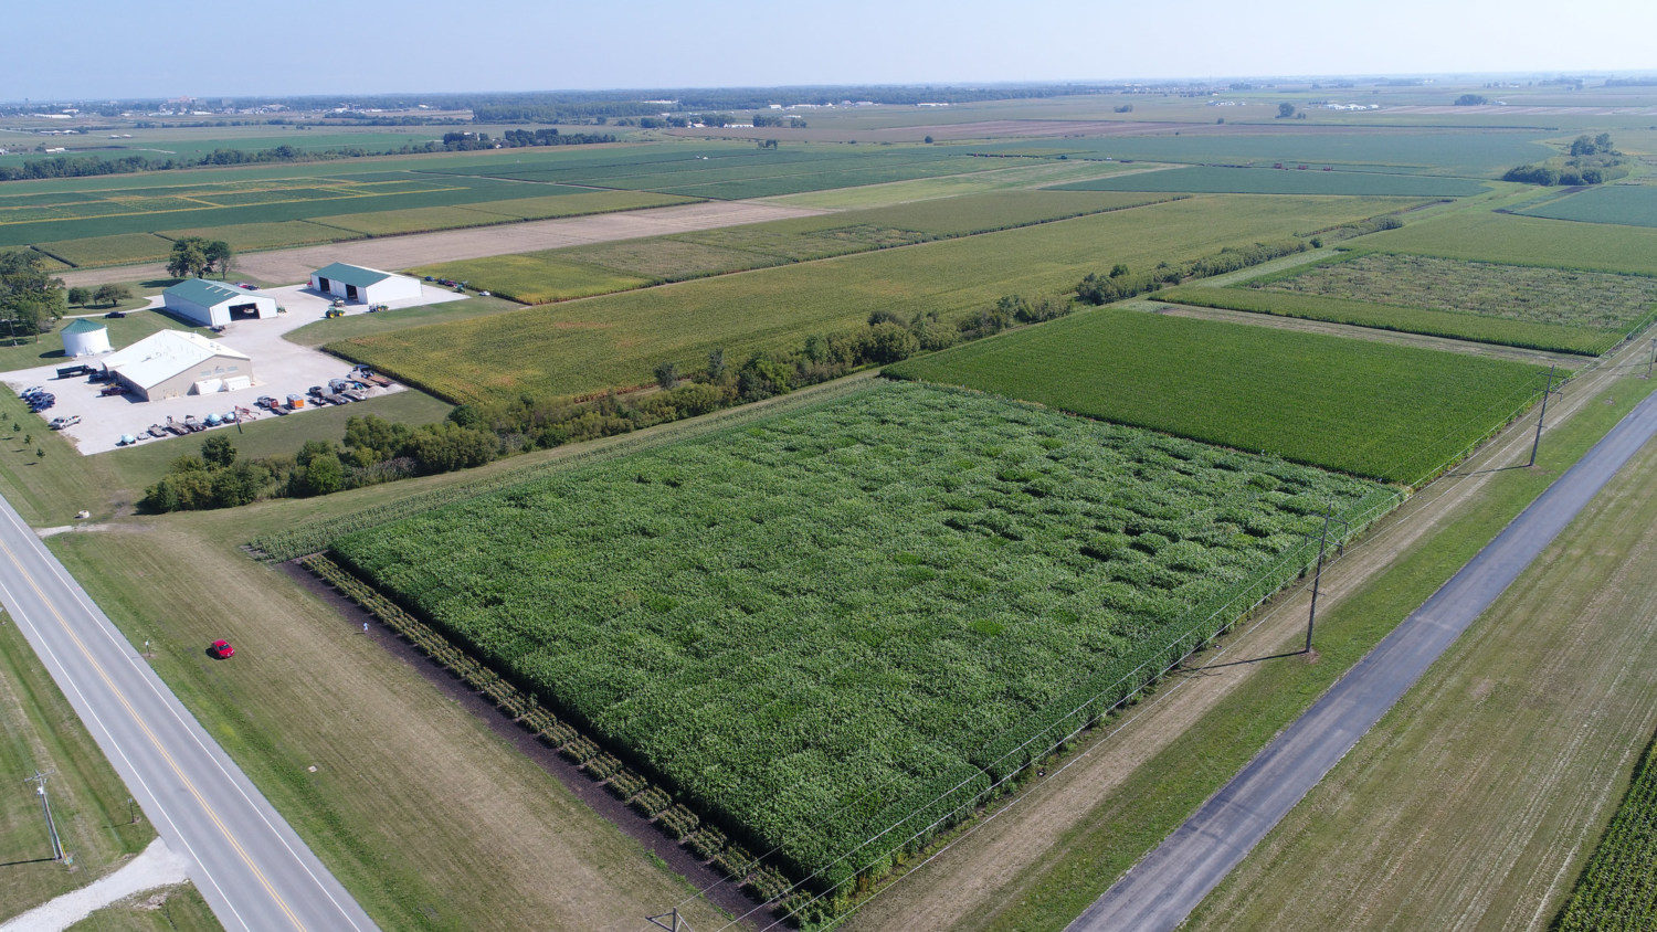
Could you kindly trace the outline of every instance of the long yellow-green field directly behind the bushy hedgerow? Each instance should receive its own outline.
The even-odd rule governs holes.
[[[452,401],[534,392],[573,396],[651,381],[658,363],[701,371],[795,349],[814,333],[862,326],[870,313],[938,311],[946,323],[1004,295],[1062,296],[1114,263],[1210,255],[1392,209],[1389,200],[1208,195],[880,250],[646,291],[411,328],[328,348]]]

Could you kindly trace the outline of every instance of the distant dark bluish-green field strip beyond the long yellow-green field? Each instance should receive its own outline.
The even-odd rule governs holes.
[[[1465,197],[1485,190],[1476,180],[1258,167],[1190,167],[1160,172],[1107,175],[1051,187],[1049,190],[1183,190],[1193,194],[1354,194],[1369,197]]]

